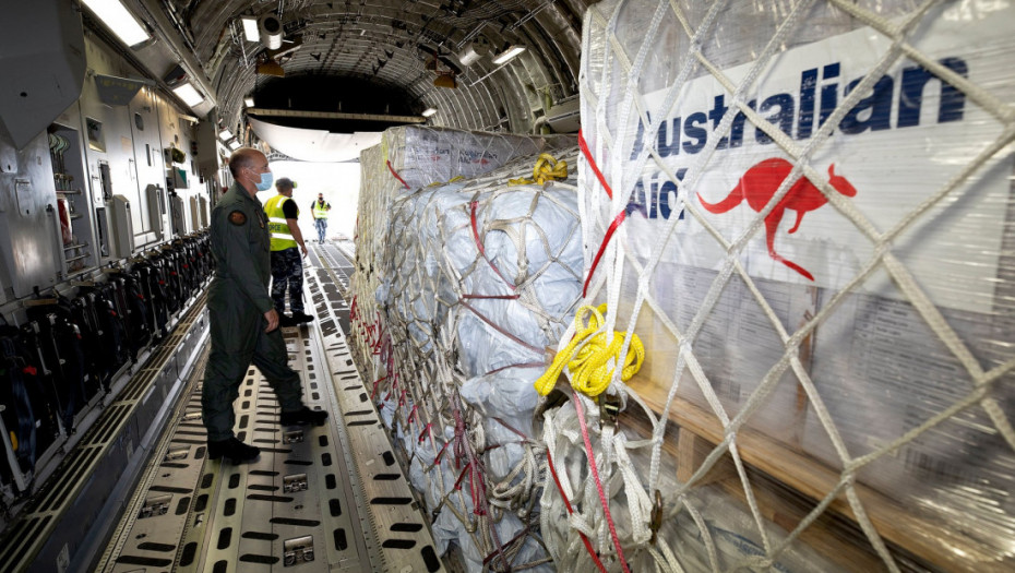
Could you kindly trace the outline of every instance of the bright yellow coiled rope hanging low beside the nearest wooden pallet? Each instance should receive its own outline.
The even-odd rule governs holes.
[[[563,350],[557,353],[549,370],[535,383],[536,392],[540,396],[546,396],[553,390],[565,363],[571,370],[572,387],[586,396],[598,396],[610,385],[614,368],[610,368],[609,362],[614,360],[616,363],[616,359],[619,358],[626,333],[613,331],[613,339],[609,344],[607,344],[605,332],[593,336],[606,323],[602,318],[605,313],[606,305],[599,305],[599,308],[586,306],[578,309],[574,315],[574,338]],[[585,322],[586,314],[589,314],[588,322]],[[620,379],[624,382],[631,380],[631,377],[642,368],[644,361],[645,347],[637,334],[632,333],[631,345],[628,347],[628,356],[624,358]]]

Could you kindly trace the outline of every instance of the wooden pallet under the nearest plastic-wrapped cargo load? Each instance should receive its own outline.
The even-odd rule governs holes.
[[[657,415],[661,415],[667,387],[649,383],[635,390]],[[724,440],[725,432],[714,414],[679,397],[673,399],[669,419],[676,423],[678,432],[676,439],[668,437],[664,442],[664,452],[677,461],[677,478],[686,482],[701,467],[705,456]],[[635,427],[645,435],[650,432],[646,420],[636,416],[622,416],[620,423]],[[755,430],[741,428],[737,432],[737,446],[741,459],[756,476],[751,477],[751,485],[762,515],[787,532],[796,528],[839,481],[837,470]],[[728,452],[694,487],[705,485],[717,485],[735,499],[747,499]],[[910,559],[947,571],[968,570],[970,566],[984,572],[1015,571],[1015,558],[999,556],[996,549],[950,524],[918,515],[899,500],[862,484],[856,485],[856,491],[863,511],[894,551],[901,550]],[[805,500],[805,503],[800,503],[800,500]],[[823,516],[808,527],[800,539],[848,570],[877,571],[885,568],[870,540],[859,530],[857,516],[845,491],[831,502]]]

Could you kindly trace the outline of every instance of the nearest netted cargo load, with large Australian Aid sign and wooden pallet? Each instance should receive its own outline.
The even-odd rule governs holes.
[[[589,9],[585,300],[645,357],[547,401],[561,570],[1015,568],[1013,23],[989,2]]]

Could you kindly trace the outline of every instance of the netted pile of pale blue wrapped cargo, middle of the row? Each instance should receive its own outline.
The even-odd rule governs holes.
[[[581,299],[583,260],[574,138],[540,145],[550,153],[401,193],[379,256],[370,399],[439,549],[457,544],[469,571],[552,570],[533,382]]]

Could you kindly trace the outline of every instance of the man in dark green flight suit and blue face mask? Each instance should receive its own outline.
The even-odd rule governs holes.
[[[242,147],[229,158],[229,171],[235,182],[212,210],[212,255],[217,266],[208,287],[212,351],[204,370],[201,409],[208,457],[225,456],[241,463],[261,453],[232,433],[232,402],[251,362],[275,391],[283,426],[321,426],[327,413],[303,405],[299,374],[288,366],[278,313],[268,296],[271,237],[267,216],[256,198],[259,190],[272,186],[267,158]]]

